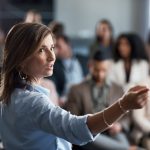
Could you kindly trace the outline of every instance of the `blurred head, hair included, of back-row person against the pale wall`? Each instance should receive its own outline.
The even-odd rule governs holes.
[[[109,41],[113,39],[113,28],[108,20],[101,20],[96,25],[96,37],[100,42]]]

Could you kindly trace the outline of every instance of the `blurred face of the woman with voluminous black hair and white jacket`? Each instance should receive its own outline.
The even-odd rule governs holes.
[[[131,54],[131,46],[126,38],[121,38],[119,41],[119,53],[122,58],[129,58]]]

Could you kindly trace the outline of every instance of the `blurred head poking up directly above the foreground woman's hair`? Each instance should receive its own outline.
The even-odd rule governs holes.
[[[42,23],[42,16],[36,10],[29,10],[26,13],[24,21],[29,23]]]

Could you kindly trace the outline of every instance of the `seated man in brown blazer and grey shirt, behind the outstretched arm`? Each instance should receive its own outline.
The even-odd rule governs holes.
[[[85,115],[107,108],[122,90],[107,80],[111,57],[105,51],[96,51],[89,62],[90,75],[78,85],[72,86],[65,108],[75,115]],[[83,146],[86,150],[128,150],[129,143],[122,132],[123,126],[116,122],[96,140]],[[109,144],[108,144],[109,143]],[[75,146],[76,148],[76,146]]]

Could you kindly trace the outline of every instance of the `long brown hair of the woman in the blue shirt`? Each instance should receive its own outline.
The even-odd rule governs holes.
[[[0,101],[9,103],[21,64],[37,50],[48,34],[52,35],[50,29],[37,23],[19,23],[11,28],[5,40]],[[28,76],[26,81],[33,81],[33,77]]]

